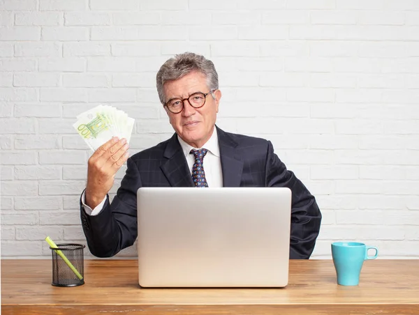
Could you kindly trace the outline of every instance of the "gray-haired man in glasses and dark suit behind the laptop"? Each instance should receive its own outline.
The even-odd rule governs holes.
[[[129,158],[126,139],[116,137],[91,155],[80,198],[90,252],[109,257],[133,245],[139,187],[288,187],[290,258],[309,259],[321,224],[316,200],[286,169],[270,141],[216,126],[221,91],[214,63],[197,54],[179,54],[161,66],[156,81],[175,134]],[[108,192],[124,162],[126,174],[110,203]]]

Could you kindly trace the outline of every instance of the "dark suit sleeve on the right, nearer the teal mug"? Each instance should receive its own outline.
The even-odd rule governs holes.
[[[267,187],[288,187],[292,192],[290,259],[309,259],[321,224],[316,199],[293,172],[286,169],[270,141],[265,174]]]

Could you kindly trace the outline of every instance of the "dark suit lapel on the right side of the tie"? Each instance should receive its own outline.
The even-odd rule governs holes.
[[[236,154],[237,142],[218,127],[216,127],[216,132],[219,138],[223,187],[240,187],[243,161]]]

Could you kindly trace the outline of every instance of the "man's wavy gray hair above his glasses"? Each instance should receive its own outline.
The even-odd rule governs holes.
[[[157,72],[157,93],[159,93],[161,104],[166,102],[163,91],[164,84],[168,81],[180,79],[193,71],[201,72],[207,77],[207,86],[211,91],[219,88],[218,74],[214,63],[205,59],[204,56],[193,54],[193,52],[184,52],[168,59]]]

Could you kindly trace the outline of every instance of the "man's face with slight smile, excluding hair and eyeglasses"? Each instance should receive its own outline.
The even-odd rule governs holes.
[[[201,72],[191,72],[181,79],[166,82],[163,86],[165,102],[172,98],[189,98],[189,95],[200,92],[208,93],[207,78]],[[184,101],[184,109],[179,114],[173,114],[166,107],[170,124],[187,144],[200,148],[207,142],[216,121],[216,113],[219,110],[221,91],[214,92],[215,100],[211,94],[205,98],[205,105],[200,108],[192,107],[188,100]]]

